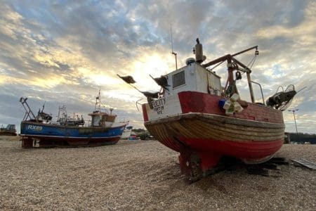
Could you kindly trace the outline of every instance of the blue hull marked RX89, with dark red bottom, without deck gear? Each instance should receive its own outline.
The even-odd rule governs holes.
[[[81,146],[114,144],[119,141],[126,124],[119,127],[74,127],[39,122],[21,122],[22,147],[32,147],[34,139],[39,146]],[[36,143],[36,142],[34,142]],[[32,145],[32,146],[31,146]]]

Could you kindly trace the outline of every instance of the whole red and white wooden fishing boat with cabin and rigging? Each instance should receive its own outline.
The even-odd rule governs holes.
[[[202,64],[202,44],[195,45],[195,58],[187,59],[183,68],[154,80],[162,87],[155,94],[142,92],[143,119],[150,134],[165,146],[180,153],[181,172],[196,180],[211,172],[220,158],[231,156],[247,164],[269,160],[284,141],[282,108],[296,94],[281,91],[265,105],[255,103],[251,70],[235,56],[258,46],[228,54]],[[210,67],[227,62],[225,87]],[[235,74],[234,74],[235,73]],[[245,73],[251,102],[239,99],[236,81]],[[129,84],[131,76],[121,77]],[[261,86],[260,86],[261,87]]]

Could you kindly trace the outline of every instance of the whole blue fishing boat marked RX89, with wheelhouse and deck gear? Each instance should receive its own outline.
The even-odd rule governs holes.
[[[52,121],[51,115],[44,113],[44,106],[39,110],[37,116],[27,104],[27,98],[20,98],[25,117],[21,122],[22,148],[40,147],[67,147],[67,146],[100,146],[115,144],[119,141],[121,134],[128,122],[114,122],[117,115],[102,112],[100,109],[100,91],[96,98],[96,108],[91,116],[91,124],[85,126],[82,118],[67,117],[67,113],[60,115],[59,108],[58,120]]]

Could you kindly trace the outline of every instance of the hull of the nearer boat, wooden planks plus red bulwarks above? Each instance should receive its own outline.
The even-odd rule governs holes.
[[[218,106],[219,100],[220,96],[184,91],[178,94],[182,113],[154,120],[150,120],[149,106],[143,106],[145,127],[158,141],[180,153],[181,171],[189,176],[195,165],[206,174],[223,156],[249,164],[265,162],[283,144],[282,113],[248,103],[241,114],[230,117]]]

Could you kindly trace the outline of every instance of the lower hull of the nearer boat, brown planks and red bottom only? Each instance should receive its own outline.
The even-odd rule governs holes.
[[[272,158],[284,141],[284,124],[238,120],[232,117],[187,113],[145,122],[158,141],[180,153],[181,171],[191,174],[192,157],[202,172],[215,167],[223,156],[246,163]]]

